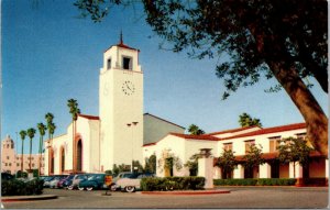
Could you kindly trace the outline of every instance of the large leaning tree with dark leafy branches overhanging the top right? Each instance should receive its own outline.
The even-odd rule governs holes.
[[[84,15],[101,21],[111,7],[133,0],[77,0]],[[240,87],[275,77],[307,123],[308,140],[328,154],[328,118],[304,79],[328,92],[326,0],[142,0],[146,22],[174,52],[220,57],[223,98]],[[221,60],[221,59],[219,59]]]

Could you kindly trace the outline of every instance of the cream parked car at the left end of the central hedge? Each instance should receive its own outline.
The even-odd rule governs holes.
[[[120,178],[111,189],[133,192],[140,189],[141,179],[144,177],[155,177],[154,174],[131,174],[129,177]]]

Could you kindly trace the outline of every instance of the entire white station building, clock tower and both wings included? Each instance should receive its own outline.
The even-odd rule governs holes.
[[[46,175],[69,173],[102,173],[113,165],[124,164],[134,169],[132,161],[142,165],[145,158],[156,155],[157,176],[167,176],[160,159],[176,156],[184,165],[201,148],[211,148],[219,157],[224,150],[232,150],[242,159],[251,144],[262,145],[266,163],[255,167],[249,177],[288,178],[329,177],[328,157],[310,153],[310,163],[301,168],[293,163],[282,165],[275,161],[277,140],[305,137],[306,124],[296,123],[273,128],[238,128],[204,135],[185,134],[185,128],[143,113],[143,69],[139,64],[140,51],[123,44],[110,46],[103,53],[103,66],[99,70],[99,115],[78,114],[76,125],[67,132],[46,141]],[[294,173],[294,169],[296,170]],[[221,178],[221,169],[213,167],[213,177]],[[189,169],[173,168],[174,176],[189,176]],[[246,178],[242,164],[231,175]]]

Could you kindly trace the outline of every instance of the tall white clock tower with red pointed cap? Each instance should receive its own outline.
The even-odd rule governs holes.
[[[143,73],[139,53],[122,42],[103,53],[100,69],[100,169],[142,164]],[[97,154],[95,154],[97,155]]]

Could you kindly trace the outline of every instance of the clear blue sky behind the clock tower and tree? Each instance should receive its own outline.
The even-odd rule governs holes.
[[[37,3],[35,3],[37,2]],[[226,101],[223,81],[215,74],[217,59],[190,59],[185,53],[158,49],[162,42],[145,24],[139,8],[116,9],[101,23],[79,19],[70,0],[3,0],[2,3],[2,115],[1,140],[35,128],[52,112],[55,136],[70,123],[67,100],[75,98],[85,114],[98,115],[98,76],[102,53],[119,42],[139,48],[144,71],[144,112],[206,132],[239,128],[243,112],[264,126],[302,122],[285,91],[265,93],[276,81],[262,80],[241,88]],[[312,92],[328,112],[328,96],[319,86]],[[34,137],[33,153],[37,151]],[[29,152],[25,141],[25,153]]]

